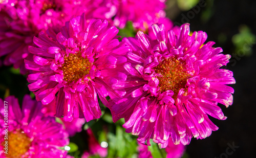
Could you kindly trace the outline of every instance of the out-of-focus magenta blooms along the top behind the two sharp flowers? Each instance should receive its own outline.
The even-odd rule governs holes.
[[[138,10],[145,6],[141,14]],[[152,7],[154,6],[154,7]],[[40,31],[46,32],[49,28],[57,30],[71,17],[84,13],[87,19],[106,19],[123,28],[128,20],[134,22],[136,29],[144,30],[148,26],[164,22],[172,25],[165,18],[164,2],[154,1],[111,1],[111,0],[36,0],[36,1],[7,1],[0,4],[0,57],[6,56],[5,65],[13,64],[20,68],[20,73],[28,70],[24,66],[24,59],[31,59],[28,46],[33,46],[33,37]],[[135,14],[131,14],[135,13]],[[128,16],[128,18],[124,18]],[[118,22],[119,21],[119,22]]]

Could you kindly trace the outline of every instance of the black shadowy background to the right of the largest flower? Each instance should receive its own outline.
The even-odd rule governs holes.
[[[186,156],[254,157],[256,147],[256,45],[248,43],[246,45],[245,42],[243,49],[247,50],[248,47],[251,47],[252,53],[244,55],[241,53],[243,50],[236,49],[232,37],[239,34],[239,28],[244,25],[250,28],[251,33],[255,35],[256,1],[205,1],[204,7],[200,7],[198,14],[194,12],[195,16],[191,13],[193,9],[181,11],[177,4],[173,4],[173,1],[168,2],[168,4],[171,3],[172,5],[168,5],[166,12],[175,24],[189,22],[191,31],[205,31],[208,35],[207,41],[216,42],[214,47],[221,47],[224,54],[233,54],[227,69],[233,72],[237,82],[230,85],[234,88],[233,104],[228,108],[219,105],[227,120],[220,121],[210,118],[219,127],[219,130],[212,132],[211,136],[204,140],[192,139],[187,146]],[[201,3],[203,2],[201,1]],[[205,20],[203,17],[207,16],[209,12],[211,15]],[[246,40],[256,43],[256,40],[250,37]],[[232,151],[229,144],[239,147]]]

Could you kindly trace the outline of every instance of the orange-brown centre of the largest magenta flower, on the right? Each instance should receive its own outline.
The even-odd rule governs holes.
[[[185,88],[187,79],[191,76],[185,69],[185,63],[175,58],[164,59],[153,69],[155,73],[160,74],[157,76],[159,80],[159,88],[161,92],[172,90],[174,98],[177,98],[181,88]]]

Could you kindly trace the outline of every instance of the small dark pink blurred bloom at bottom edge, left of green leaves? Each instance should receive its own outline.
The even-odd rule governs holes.
[[[103,148],[99,145],[98,141],[94,137],[92,129],[89,128],[86,131],[88,134],[89,150],[84,151],[82,158],[87,158],[90,155],[96,155],[96,154],[98,154],[100,157],[105,157],[106,155],[108,155],[108,148]]]

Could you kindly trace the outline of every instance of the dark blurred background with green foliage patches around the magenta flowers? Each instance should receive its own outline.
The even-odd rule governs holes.
[[[225,121],[210,118],[219,130],[204,140],[192,139],[183,157],[253,157],[256,133],[256,1],[254,0],[168,0],[166,16],[175,25],[190,23],[191,31],[205,31],[207,41],[215,41],[231,59],[226,69],[234,74],[233,105],[220,105]],[[0,97],[15,95],[22,102],[24,94],[31,94],[28,83],[11,66],[0,68]],[[18,82],[17,82],[18,80]],[[99,142],[109,145],[108,157],[135,157],[136,137],[124,132],[122,121],[113,123],[110,111],[102,106],[102,118],[83,126],[91,127]],[[71,155],[78,157],[88,149],[83,130],[70,139]],[[72,146],[71,145],[71,146]],[[111,150],[110,150],[111,149]]]

